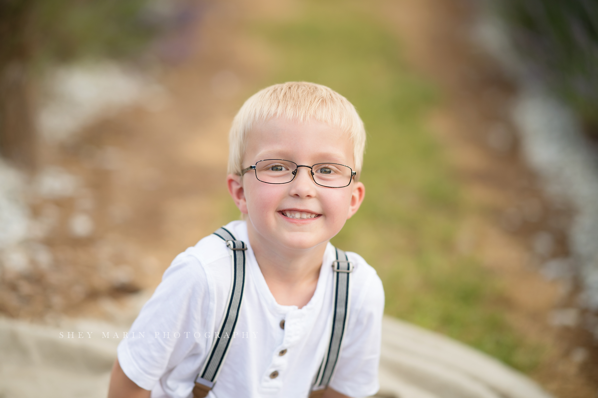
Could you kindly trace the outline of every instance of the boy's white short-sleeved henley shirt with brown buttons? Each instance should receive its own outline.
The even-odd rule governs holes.
[[[330,338],[334,247],[328,243],[309,303],[303,308],[281,306],[255,260],[245,221],[226,228],[249,246],[245,290],[236,334],[230,336],[227,357],[208,397],[306,398]],[[365,397],[379,388],[384,291],[362,257],[352,252],[347,256],[355,266],[349,323],[329,385],[347,396]],[[127,377],[151,390],[152,398],[193,396],[194,380],[224,316],[230,284],[230,251],[218,236],[207,236],[179,254],[118,345],[118,362]]]

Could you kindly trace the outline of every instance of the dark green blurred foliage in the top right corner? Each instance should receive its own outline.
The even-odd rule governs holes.
[[[505,0],[503,13],[532,73],[598,134],[598,2]]]

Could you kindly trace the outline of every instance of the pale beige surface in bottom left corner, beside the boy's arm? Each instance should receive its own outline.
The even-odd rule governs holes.
[[[0,397],[106,397],[118,341],[60,338],[60,331],[0,319]]]

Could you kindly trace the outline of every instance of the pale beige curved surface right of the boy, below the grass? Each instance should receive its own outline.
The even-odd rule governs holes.
[[[535,382],[474,348],[407,322],[382,323],[380,392],[400,398],[550,398]]]

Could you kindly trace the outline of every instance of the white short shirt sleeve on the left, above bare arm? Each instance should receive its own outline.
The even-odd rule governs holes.
[[[124,374],[139,387],[152,390],[185,357],[205,355],[205,344],[198,344],[193,334],[205,329],[202,323],[209,308],[208,281],[199,260],[178,255],[118,345]]]

